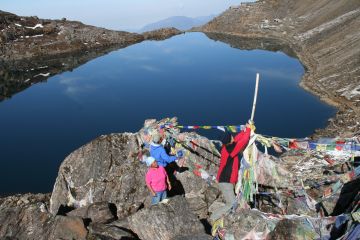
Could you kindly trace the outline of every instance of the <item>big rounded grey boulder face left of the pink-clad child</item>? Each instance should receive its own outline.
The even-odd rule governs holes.
[[[50,212],[56,214],[61,205],[78,208],[107,201],[122,217],[130,214],[148,196],[139,149],[136,134],[124,133],[101,136],[71,153],[60,166]]]

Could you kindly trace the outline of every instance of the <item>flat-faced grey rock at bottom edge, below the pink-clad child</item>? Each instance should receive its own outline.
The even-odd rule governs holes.
[[[167,204],[140,210],[129,217],[129,225],[141,239],[164,240],[205,233],[181,196],[171,198]]]

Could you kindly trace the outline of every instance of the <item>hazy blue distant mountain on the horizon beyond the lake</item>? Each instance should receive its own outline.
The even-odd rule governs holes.
[[[169,17],[164,20],[148,24],[144,26],[139,32],[147,32],[152,31],[159,28],[166,28],[166,27],[174,27],[179,30],[188,30],[192,27],[201,26],[210,20],[212,20],[216,15],[204,16],[204,17],[184,17],[184,16],[175,16]]]

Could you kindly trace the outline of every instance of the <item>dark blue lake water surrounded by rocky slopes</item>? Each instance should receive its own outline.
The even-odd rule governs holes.
[[[258,133],[304,137],[335,113],[298,86],[304,69],[282,52],[239,50],[201,33],[147,41],[0,102],[0,195],[51,192],[68,154],[101,134],[136,132],[145,119],[243,124],[256,72]]]

